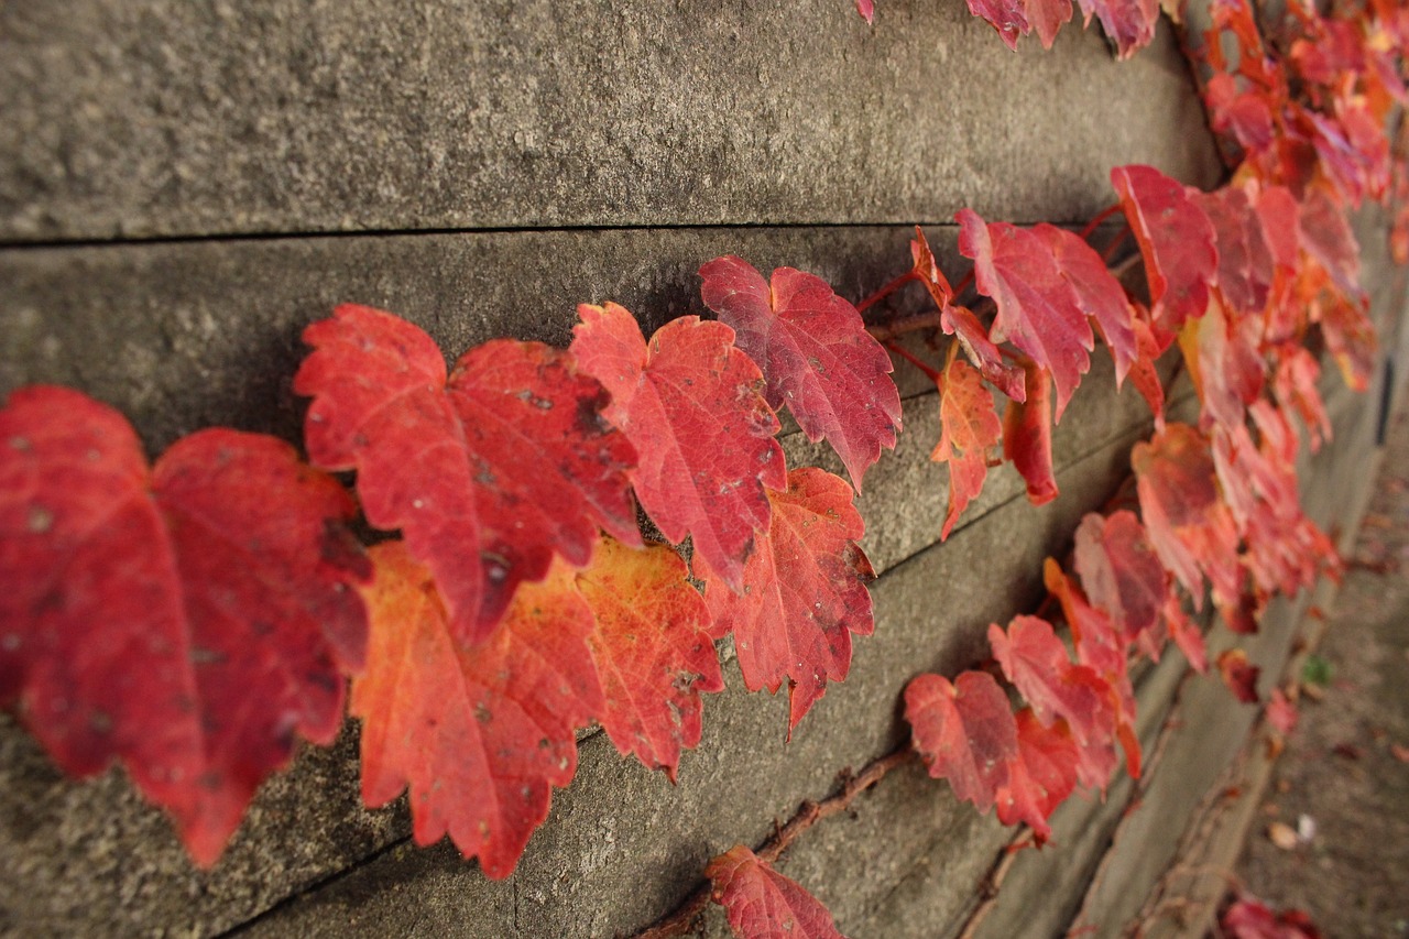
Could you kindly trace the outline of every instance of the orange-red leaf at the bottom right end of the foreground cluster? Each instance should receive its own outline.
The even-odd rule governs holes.
[[[769,492],[772,527],[744,567],[744,589],[728,589],[707,558],[695,575],[719,634],[734,651],[750,691],[788,682],[788,732],[851,668],[851,634],[875,629],[871,563],[857,546],[865,532],[851,488],[816,467],[788,474],[786,492]]]

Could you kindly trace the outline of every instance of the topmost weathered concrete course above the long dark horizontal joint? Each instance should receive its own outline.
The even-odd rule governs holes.
[[[958,3],[0,6],[0,241],[1081,221],[1217,178],[1168,28],[1017,55]]]

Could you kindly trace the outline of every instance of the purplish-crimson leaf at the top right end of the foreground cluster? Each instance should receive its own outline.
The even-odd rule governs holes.
[[[764,369],[768,405],[788,405],[807,440],[826,437],[859,492],[881,450],[895,448],[900,395],[890,357],[857,307],[819,276],[778,268],[769,282],[733,255],[710,261],[700,276],[704,306]]]

